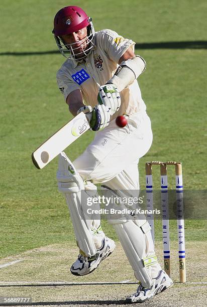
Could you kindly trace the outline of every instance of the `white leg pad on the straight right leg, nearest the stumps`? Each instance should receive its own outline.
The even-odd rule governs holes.
[[[101,186],[102,193],[106,197],[119,196],[115,191],[107,186]],[[121,191],[119,191],[120,193]],[[123,203],[112,202],[108,209],[118,210],[118,214],[111,214],[108,216],[109,224],[113,225],[126,256],[134,270],[135,277],[141,281],[144,287],[150,287],[153,284],[149,268],[154,263],[157,263],[155,254],[147,257],[146,251],[148,243],[147,236],[150,234],[150,225],[146,221],[145,215],[131,216],[130,214],[119,213],[122,209],[133,209],[124,205]]]

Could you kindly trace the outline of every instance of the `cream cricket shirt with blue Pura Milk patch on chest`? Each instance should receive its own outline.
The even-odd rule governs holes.
[[[80,89],[84,104],[92,107],[98,104],[99,86],[114,76],[121,56],[129,47],[134,50],[135,42],[112,30],[101,30],[95,33],[94,44],[85,61],[67,59],[58,70],[57,83],[65,100],[72,91]],[[118,115],[132,115],[146,109],[137,80],[125,88],[120,96],[121,107],[110,121]]]

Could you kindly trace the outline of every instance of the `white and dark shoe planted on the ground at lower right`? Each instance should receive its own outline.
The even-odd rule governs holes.
[[[159,294],[173,285],[172,279],[170,279],[170,277],[163,270],[160,270],[158,276],[153,278],[152,281],[153,284],[149,288],[144,288],[140,283],[136,293],[128,296],[126,301],[129,303],[135,303],[149,300],[156,294]]]

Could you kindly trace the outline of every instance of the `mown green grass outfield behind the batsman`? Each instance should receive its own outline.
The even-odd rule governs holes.
[[[57,48],[51,33],[55,13],[67,5],[85,9],[96,31],[109,28],[133,39],[136,54],[147,62],[138,81],[154,140],[139,163],[141,188],[146,161],[177,160],[183,165],[184,189],[206,189],[204,0],[105,0],[104,6],[95,0],[2,0],[0,257],[74,242],[68,209],[57,191],[57,158],[41,171],[31,160],[31,152],[72,118],[56,85],[56,71],[64,58],[52,52]],[[93,136],[88,131],[65,150],[71,160]],[[154,182],[158,187],[158,174]],[[205,224],[187,220],[186,240],[205,240]],[[106,233],[116,239],[105,226],[104,222]]]

